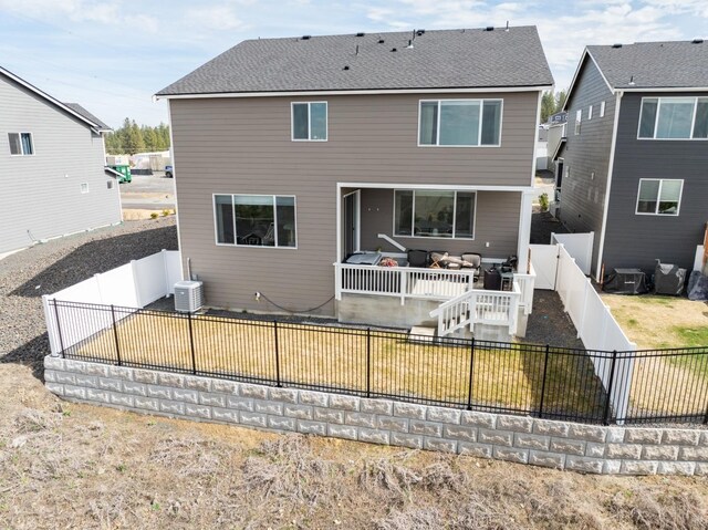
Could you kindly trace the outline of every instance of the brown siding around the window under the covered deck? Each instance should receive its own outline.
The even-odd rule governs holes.
[[[519,215],[522,194],[513,191],[477,191],[475,239],[394,237],[409,249],[444,250],[459,256],[477,252],[485,258],[504,258],[517,253]],[[381,247],[385,252],[399,252],[378,233],[393,236],[394,190],[362,189],[362,250]],[[486,246],[489,243],[489,247]]]

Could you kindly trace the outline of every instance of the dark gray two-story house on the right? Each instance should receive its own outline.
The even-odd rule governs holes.
[[[595,232],[592,274],[690,270],[708,220],[708,44],[587,46],[564,108],[559,215]]]

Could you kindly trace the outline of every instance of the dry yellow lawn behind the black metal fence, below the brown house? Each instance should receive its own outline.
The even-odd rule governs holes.
[[[274,381],[273,324],[221,318],[192,319],[196,356],[192,361],[189,322],[171,313],[143,313],[117,326],[121,361],[133,365],[159,364],[215,375]],[[387,394],[438,403],[466,404],[469,388],[468,346],[410,342],[400,333],[372,332],[367,368],[365,330],[279,324],[280,380],[287,385]],[[104,332],[76,351],[81,357],[116,362],[115,336]],[[496,408],[538,411],[544,351],[475,352],[472,404]],[[563,382],[575,382],[574,386]],[[591,363],[582,354],[551,357],[546,370],[544,411],[597,413],[598,396]]]

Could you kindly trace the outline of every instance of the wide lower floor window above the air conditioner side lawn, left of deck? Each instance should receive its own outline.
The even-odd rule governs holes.
[[[217,242],[296,247],[295,198],[281,195],[215,195]]]

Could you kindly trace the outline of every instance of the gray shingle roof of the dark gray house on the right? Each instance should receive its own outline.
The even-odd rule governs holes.
[[[613,89],[708,86],[708,42],[637,42],[587,52]]]

